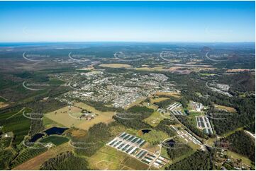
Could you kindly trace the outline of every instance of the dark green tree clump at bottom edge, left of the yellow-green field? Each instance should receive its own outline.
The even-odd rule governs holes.
[[[75,157],[72,152],[65,152],[45,161],[40,170],[89,170],[89,167],[84,158]]]

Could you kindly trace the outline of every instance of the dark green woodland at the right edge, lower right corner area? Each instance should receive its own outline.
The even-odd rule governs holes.
[[[253,162],[255,161],[255,141],[244,131],[236,131],[234,134],[222,138],[221,144],[223,146],[228,144],[230,151],[240,153],[250,158]]]

